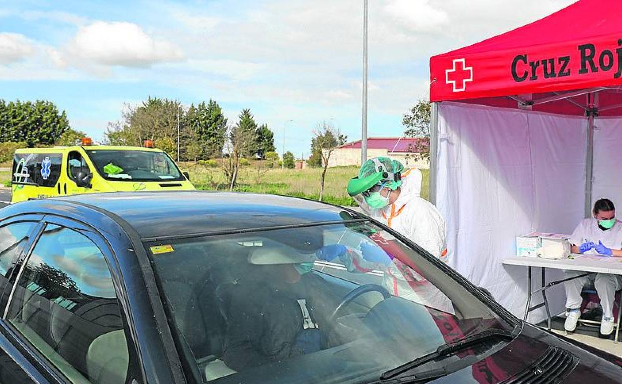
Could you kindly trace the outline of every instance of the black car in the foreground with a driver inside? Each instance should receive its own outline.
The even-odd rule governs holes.
[[[622,383],[379,223],[266,195],[0,210],[0,383]]]

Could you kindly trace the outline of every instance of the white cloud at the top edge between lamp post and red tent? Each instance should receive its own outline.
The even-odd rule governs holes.
[[[418,32],[438,30],[449,21],[447,12],[430,6],[429,0],[391,0],[384,6],[384,11],[392,19]]]

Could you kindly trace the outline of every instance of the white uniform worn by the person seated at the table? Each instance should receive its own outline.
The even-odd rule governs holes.
[[[592,241],[596,245],[601,241],[603,245],[612,250],[622,249],[622,222],[616,223],[610,229],[603,231],[598,227],[596,218],[586,218],[579,223],[575,231],[570,236],[570,244],[580,246],[583,243]],[[588,255],[598,255],[596,250],[585,252]],[[603,256],[605,257],[605,256]],[[564,271],[567,278],[583,274],[581,271]],[[613,301],[615,293],[622,289],[622,276],[607,273],[590,274],[582,278],[564,282],[566,289],[566,308],[577,309],[581,307],[583,301],[581,290],[585,286],[594,286],[600,298],[600,305],[603,307],[604,317],[613,317]]]

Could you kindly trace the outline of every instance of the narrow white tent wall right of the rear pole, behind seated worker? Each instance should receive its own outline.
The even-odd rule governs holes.
[[[596,118],[592,205],[598,199],[610,199],[622,218],[622,119]]]

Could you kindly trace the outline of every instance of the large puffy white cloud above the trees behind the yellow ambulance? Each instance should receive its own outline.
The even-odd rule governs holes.
[[[94,22],[80,27],[66,48],[68,55],[104,66],[149,67],[184,59],[183,51],[154,39],[128,22]]]

